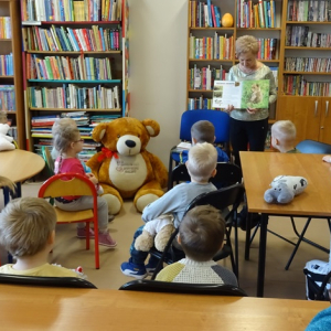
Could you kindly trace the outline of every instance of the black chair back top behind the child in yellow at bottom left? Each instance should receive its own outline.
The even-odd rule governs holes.
[[[96,288],[92,282],[78,277],[32,277],[0,274],[0,284],[44,287]]]

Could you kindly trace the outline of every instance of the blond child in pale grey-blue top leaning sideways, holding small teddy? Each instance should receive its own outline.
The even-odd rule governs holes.
[[[142,212],[142,221],[147,223],[158,218],[164,220],[168,215],[169,220],[173,217],[174,226],[178,227],[186,206],[193,199],[202,193],[216,190],[212,183],[209,183],[209,179],[216,174],[216,162],[217,152],[211,143],[194,145],[189,151],[189,160],[186,161],[191,182],[175,185],[160,199],[146,206]],[[142,229],[143,226],[140,226],[134,235],[129,261],[122,263],[120,266],[122,274],[140,279],[147,276],[147,271],[152,273],[158,264],[157,258],[150,257],[148,265],[145,266],[148,252],[135,248],[135,241],[142,233]]]

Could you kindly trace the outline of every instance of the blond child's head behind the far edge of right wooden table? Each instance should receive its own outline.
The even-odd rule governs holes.
[[[296,126],[290,120],[278,120],[271,126],[271,145],[281,152],[295,148]]]

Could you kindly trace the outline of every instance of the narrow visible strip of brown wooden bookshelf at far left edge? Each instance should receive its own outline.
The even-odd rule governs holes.
[[[8,114],[12,128],[10,135],[14,137],[19,148],[24,148],[20,25],[20,1],[0,0],[0,109]]]

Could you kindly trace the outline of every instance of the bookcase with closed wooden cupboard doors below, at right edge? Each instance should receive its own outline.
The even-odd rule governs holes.
[[[278,119],[290,119],[297,140],[331,143],[331,1],[284,1]]]

